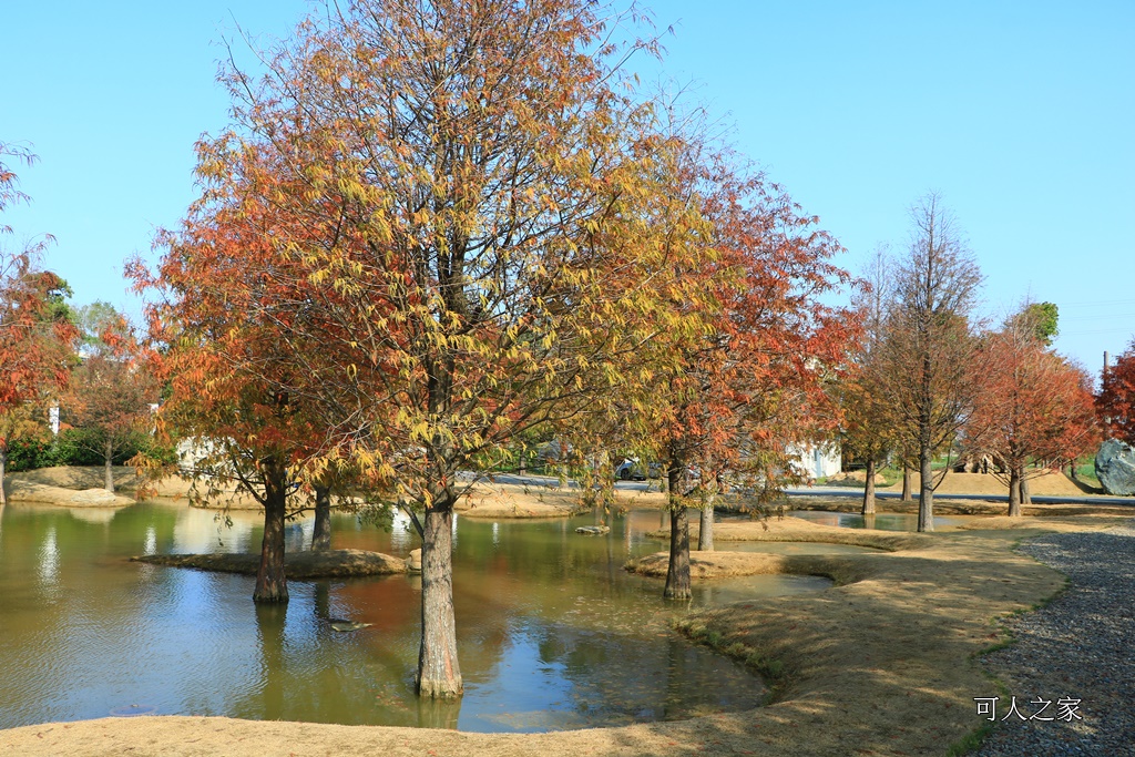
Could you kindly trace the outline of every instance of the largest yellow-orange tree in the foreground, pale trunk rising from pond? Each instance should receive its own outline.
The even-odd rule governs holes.
[[[192,338],[169,320],[185,354],[262,337],[247,359],[216,359],[224,399],[250,397],[232,418],[276,413],[259,440],[327,443],[261,460],[318,471],[346,457],[413,514],[422,696],[462,691],[462,472],[599,406],[625,380],[625,355],[665,328],[636,278],[662,269],[647,219],[664,140],[609,62],[627,52],[609,43],[624,20],[612,14],[585,0],[372,0],[309,19],[266,54],[263,81],[230,73],[236,123],[202,145],[199,171],[205,203],[234,210],[199,205],[160,275],[188,283],[183,302],[205,276],[230,279],[236,328],[219,292]],[[250,161],[261,175],[249,178]],[[262,213],[263,233],[230,242],[224,227],[247,227],[241,213]],[[215,235],[226,239],[208,245],[213,270],[191,270],[192,237]]]

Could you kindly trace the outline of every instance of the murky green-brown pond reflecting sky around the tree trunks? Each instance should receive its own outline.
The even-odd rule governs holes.
[[[257,607],[253,578],[128,562],[144,553],[255,552],[259,516],[141,503],[119,511],[0,507],[0,727],[108,715],[227,715],[343,724],[547,731],[741,710],[759,679],[669,628],[687,606],[627,560],[665,545],[658,511],[609,533],[557,521],[457,518],[454,587],[465,695],[413,695],[420,579],[289,582],[285,607]],[[334,519],[336,548],[405,555],[384,531]],[[311,522],[288,527],[288,549]],[[722,548],[730,548],[722,545]],[[692,606],[814,591],[815,577],[695,584]],[[328,619],[371,623],[337,632]]]

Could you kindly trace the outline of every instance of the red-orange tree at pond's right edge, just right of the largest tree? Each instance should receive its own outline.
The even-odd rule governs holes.
[[[687,599],[688,508],[701,512],[699,548],[708,549],[723,490],[771,494],[799,477],[792,446],[835,428],[825,380],[856,326],[822,303],[848,278],[830,262],[839,245],[781,187],[689,137],[669,165],[667,194],[680,202],[654,222],[696,233],[666,234],[666,270],[675,275],[649,277],[681,327],[639,353],[649,381],[637,412],[669,478],[664,596]]]

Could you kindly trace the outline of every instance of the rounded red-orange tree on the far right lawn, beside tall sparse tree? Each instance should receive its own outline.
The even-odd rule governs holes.
[[[997,462],[1014,516],[1028,478],[1060,470],[1099,441],[1091,381],[1046,347],[1054,326],[1046,316],[1027,306],[984,336],[982,388],[966,427],[967,446]]]

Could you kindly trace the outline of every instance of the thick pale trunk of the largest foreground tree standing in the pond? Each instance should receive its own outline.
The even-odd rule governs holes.
[[[460,697],[457,626],[453,615],[453,507],[426,510],[422,524],[422,644],[418,653],[418,693],[435,699]]]

